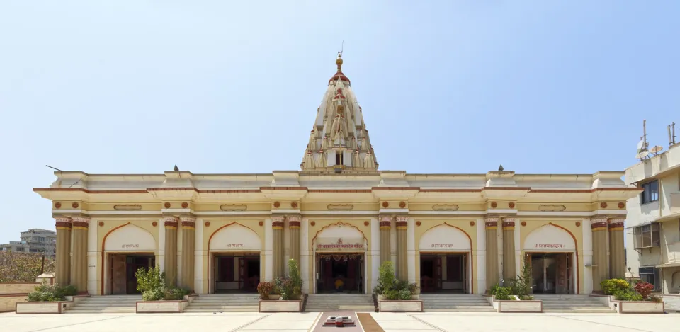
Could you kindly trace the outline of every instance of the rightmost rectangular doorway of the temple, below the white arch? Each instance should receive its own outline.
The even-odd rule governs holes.
[[[534,294],[574,294],[571,253],[528,253]]]

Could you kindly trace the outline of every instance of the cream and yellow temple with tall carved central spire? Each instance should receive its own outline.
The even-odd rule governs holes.
[[[624,202],[640,192],[623,172],[378,171],[342,59],[336,64],[301,171],[55,172],[50,187],[34,191],[52,201],[57,220],[57,282],[111,294],[123,257],[138,266],[137,256],[199,294],[230,287],[218,275],[238,279],[246,269],[272,280],[289,258],[300,262],[308,293],[327,285],[322,270],[336,269],[328,262],[338,257],[359,262],[340,274],[356,275],[352,287],[369,293],[387,260],[401,280],[428,280],[424,291],[482,294],[515,277],[525,259],[550,255],[562,263],[554,280],[543,278],[545,289],[555,282],[558,292],[588,294],[623,275],[623,251],[610,244],[623,248]]]

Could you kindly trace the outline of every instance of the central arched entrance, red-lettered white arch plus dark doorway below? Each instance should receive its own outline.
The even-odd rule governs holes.
[[[368,240],[351,224],[324,227],[312,240],[315,293],[365,293]]]

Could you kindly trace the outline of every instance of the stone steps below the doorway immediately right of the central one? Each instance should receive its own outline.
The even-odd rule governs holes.
[[[496,312],[494,306],[477,294],[420,294],[423,311]]]

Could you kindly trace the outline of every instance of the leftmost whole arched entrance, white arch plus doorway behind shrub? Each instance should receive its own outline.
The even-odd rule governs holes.
[[[154,236],[128,222],[104,236],[102,247],[102,294],[138,294],[135,272],[156,265]]]

